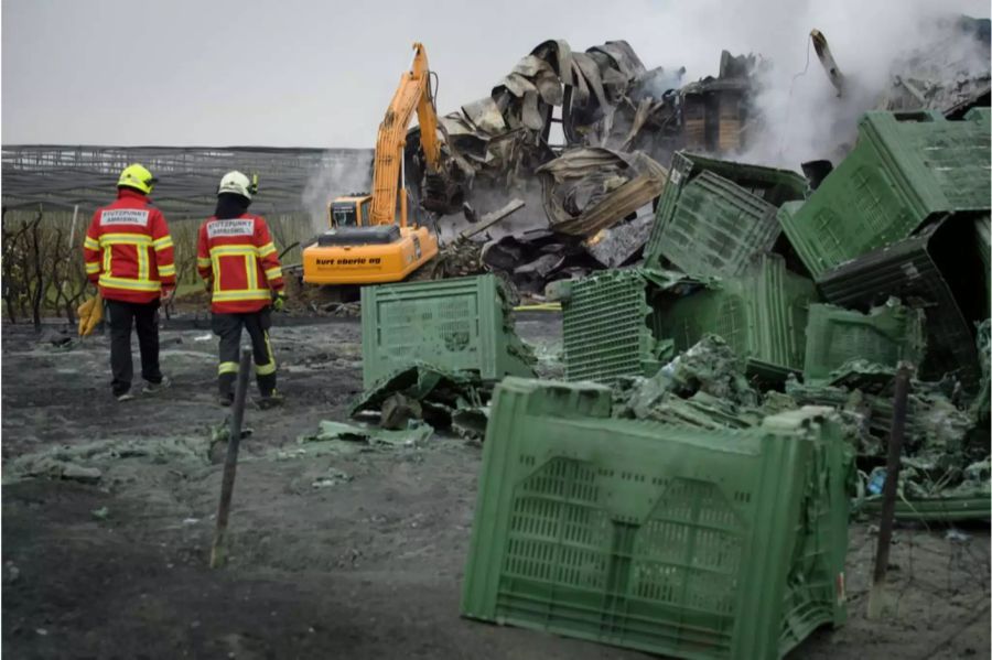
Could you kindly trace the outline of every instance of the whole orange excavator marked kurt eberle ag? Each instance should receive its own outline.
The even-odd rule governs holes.
[[[416,221],[420,207],[407,190],[403,167],[407,126],[416,109],[428,177],[443,176],[430,75],[427,52],[414,43],[413,64],[379,125],[373,192],[328,204],[331,228],[303,249],[305,283],[398,282],[438,253],[438,237]]]

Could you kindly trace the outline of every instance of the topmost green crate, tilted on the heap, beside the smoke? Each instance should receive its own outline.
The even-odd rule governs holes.
[[[802,262],[828,269],[938,215],[990,208],[989,115],[867,112],[858,144],[798,209],[778,214]]]

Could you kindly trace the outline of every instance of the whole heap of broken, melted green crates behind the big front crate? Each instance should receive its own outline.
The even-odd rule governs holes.
[[[984,108],[870,112],[807,198],[798,174],[677,153],[645,267],[549,289],[568,378],[614,385],[619,416],[705,429],[834,408],[871,484],[909,363],[902,493],[988,493],[989,149]]]

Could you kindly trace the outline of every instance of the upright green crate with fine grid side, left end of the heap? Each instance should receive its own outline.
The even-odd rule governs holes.
[[[658,370],[653,283],[640,270],[603,271],[572,282],[562,300],[565,378],[612,383]]]

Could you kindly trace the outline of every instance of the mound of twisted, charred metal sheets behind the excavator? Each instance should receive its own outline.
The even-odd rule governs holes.
[[[440,118],[450,178],[466,191],[468,229],[421,277],[496,272],[539,296],[548,282],[633,262],[667,180],[659,163],[680,148],[740,151],[758,69],[755,56],[723,52],[716,77],[683,86],[684,68],[648,69],[625,41],[585,52],[562,40],[539,44],[489,96]],[[408,137],[406,158],[423,198],[429,183],[419,130]],[[473,204],[515,195],[532,210],[540,199],[544,218],[517,216],[525,224],[509,228],[503,224],[509,214],[477,217]],[[495,255],[479,260],[479,251]]]

